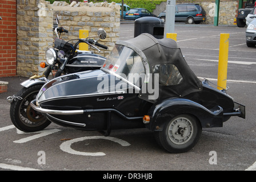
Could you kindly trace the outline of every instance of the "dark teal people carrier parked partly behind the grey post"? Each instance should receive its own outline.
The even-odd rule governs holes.
[[[158,15],[158,18],[165,21],[166,11]],[[175,7],[175,22],[187,22],[199,24],[206,21],[206,12],[203,8],[194,3],[180,4]]]

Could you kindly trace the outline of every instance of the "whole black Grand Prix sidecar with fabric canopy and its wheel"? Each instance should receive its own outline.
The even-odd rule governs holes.
[[[30,105],[59,125],[104,135],[146,127],[169,152],[190,150],[202,128],[245,118],[245,106],[194,75],[174,40],[150,34],[118,41],[99,70],[47,82]]]

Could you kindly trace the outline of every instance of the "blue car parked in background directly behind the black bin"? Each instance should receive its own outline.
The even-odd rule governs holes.
[[[144,8],[133,8],[130,9],[127,13],[126,16],[124,17],[124,19],[138,19],[144,16],[154,16],[157,17],[157,15],[154,15],[152,13],[150,13],[149,10],[144,9]]]

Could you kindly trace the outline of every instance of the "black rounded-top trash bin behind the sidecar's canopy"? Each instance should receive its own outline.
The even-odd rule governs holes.
[[[143,33],[149,33],[157,39],[163,39],[165,22],[153,16],[138,18],[134,21],[134,38]]]

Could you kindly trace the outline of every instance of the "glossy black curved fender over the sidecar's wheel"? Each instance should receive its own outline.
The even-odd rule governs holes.
[[[180,114],[193,115],[204,127],[222,127],[223,109],[216,106],[213,109],[185,98],[167,98],[154,104],[149,110],[150,122],[146,127],[153,131],[161,131],[166,122]]]

